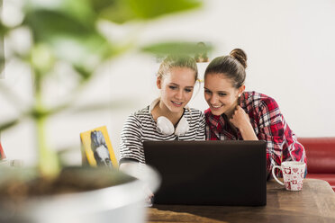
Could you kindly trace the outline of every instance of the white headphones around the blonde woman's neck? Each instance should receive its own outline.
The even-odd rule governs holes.
[[[149,111],[151,112],[155,105],[159,102],[159,99],[156,99],[153,103],[149,106]],[[190,129],[188,125],[188,121],[184,116],[181,117],[179,120],[177,127],[173,126],[172,122],[168,120],[167,117],[159,116],[157,118],[157,131],[163,135],[171,135],[175,134],[176,136],[185,135],[186,132]]]

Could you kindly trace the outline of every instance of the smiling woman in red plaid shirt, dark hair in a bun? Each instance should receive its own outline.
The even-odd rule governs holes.
[[[247,55],[233,49],[214,58],[204,72],[207,140],[267,141],[267,176],[274,165],[294,160],[306,163],[302,144],[288,127],[276,101],[256,92],[244,92]],[[278,174],[278,173],[276,173]]]

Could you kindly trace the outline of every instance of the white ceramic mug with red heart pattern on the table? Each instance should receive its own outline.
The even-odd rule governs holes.
[[[284,183],[276,178],[275,170],[280,169],[283,173]],[[275,165],[272,168],[272,175],[277,183],[285,185],[287,191],[300,191],[303,189],[303,177],[306,164],[297,161],[286,161],[282,165]]]

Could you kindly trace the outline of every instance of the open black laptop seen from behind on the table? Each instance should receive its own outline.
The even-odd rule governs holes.
[[[267,204],[263,140],[145,141],[146,163],[161,174],[155,204]]]

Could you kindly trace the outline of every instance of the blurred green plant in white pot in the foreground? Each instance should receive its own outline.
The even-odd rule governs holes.
[[[5,59],[16,59],[31,67],[34,79],[34,102],[30,109],[14,120],[0,120],[0,131],[32,119],[39,155],[36,168],[0,169],[2,222],[144,221],[143,182],[117,170],[61,166],[59,156],[44,136],[46,120],[70,108],[76,95],[96,75],[95,70],[125,52],[135,49],[164,55],[195,54],[198,50],[194,43],[186,42],[147,46],[138,46],[136,38],[115,42],[99,29],[99,22],[150,22],[200,5],[195,0],[26,0],[21,5],[22,22],[14,26],[0,23],[2,37],[22,28],[30,32],[30,48],[13,49]],[[1,59],[1,63],[3,67],[5,60]],[[71,68],[71,75],[77,76],[77,85],[73,95],[50,107],[44,103],[44,84],[59,63]],[[10,94],[4,85],[0,88]],[[157,174],[149,168],[142,169],[140,174],[155,190]]]

